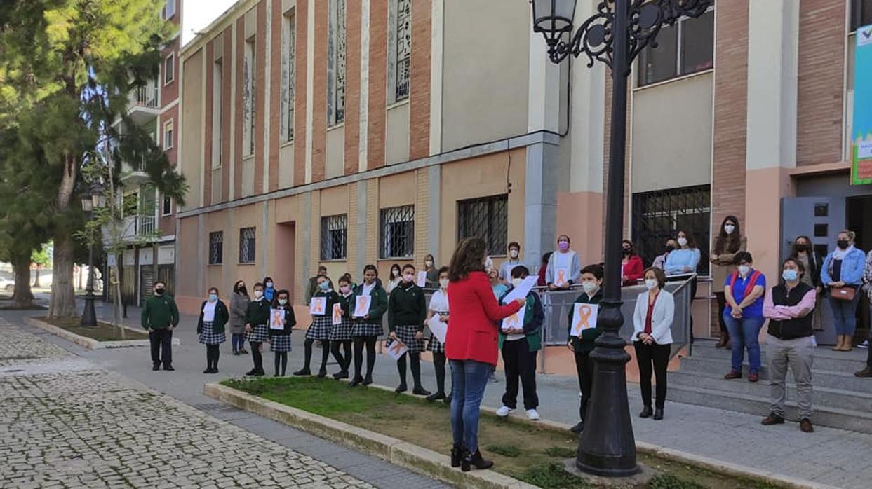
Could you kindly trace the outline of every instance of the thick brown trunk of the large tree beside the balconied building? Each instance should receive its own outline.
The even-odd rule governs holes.
[[[58,214],[70,210],[72,192],[76,186],[78,173],[78,158],[65,156],[64,178],[58,189]],[[72,265],[75,261],[75,243],[72,232],[66,226],[58,226],[55,233],[54,268],[51,280],[51,302],[49,303],[49,318],[73,318],[76,316],[76,291],[72,284]]]

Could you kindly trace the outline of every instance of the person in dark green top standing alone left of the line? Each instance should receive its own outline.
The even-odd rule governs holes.
[[[154,295],[146,298],[142,305],[142,327],[148,331],[148,339],[152,344],[152,370],[160,369],[163,362],[164,370],[173,368],[173,330],[179,325],[179,308],[167,294],[167,285],[163,282],[154,283]]]

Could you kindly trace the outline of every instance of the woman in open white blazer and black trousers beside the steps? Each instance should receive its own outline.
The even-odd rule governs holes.
[[[633,312],[633,345],[639,365],[639,384],[642,387],[644,409],[640,418],[663,419],[666,401],[666,365],[669,364],[672,345],[672,318],[675,316],[675,299],[664,291],[666,274],[659,268],[645,271],[645,286],[648,291],[636,299]],[[651,410],[651,372],[657,380],[657,402]]]

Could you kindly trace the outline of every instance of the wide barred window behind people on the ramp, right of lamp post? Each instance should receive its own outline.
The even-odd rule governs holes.
[[[645,265],[663,253],[678,231],[690,233],[702,257],[697,273],[709,272],[712,191],[709,185],[633,194],[633,243]]]

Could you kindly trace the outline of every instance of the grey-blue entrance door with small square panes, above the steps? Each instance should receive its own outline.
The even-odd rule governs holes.
[[[844,227],[844,198],[782,198],[781,258],[790,256],[797,236],[807,236],[811,238],[814,252],[822,261],[835,246],[835,237]],[[821,300],[818,307],[821,308],[824,331],[816,332],[814,336],[821,345],[835,345],[833,314],[829,309],[829,301]]]

